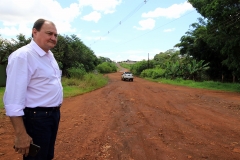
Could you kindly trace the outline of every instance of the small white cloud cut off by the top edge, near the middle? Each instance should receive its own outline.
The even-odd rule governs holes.
[[[115,12],[117,5],[121,4],[122,0],[79,0],[81,7],[90,6],[95,11],[109,14]]]

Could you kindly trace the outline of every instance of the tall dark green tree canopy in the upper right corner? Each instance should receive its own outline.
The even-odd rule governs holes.
[[[189,0],[203,16],[176,47],[181,54],[209,62],[212,76],[240,74],[239,0]],[[213,77],[214,78],[214,77]]]

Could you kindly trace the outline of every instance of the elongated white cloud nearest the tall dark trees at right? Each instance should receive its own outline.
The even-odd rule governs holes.
[[[156,8],[154,11],[143,13],[142,17],[144,18],[166,17],[170,19],[179,18],[181,15],[183,15],[187,11],[190,11],[193,9],[194,9],[193,6],[186,1],[181,4],[174,4],[168,8]]]

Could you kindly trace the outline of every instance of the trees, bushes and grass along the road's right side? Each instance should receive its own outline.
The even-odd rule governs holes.
[[[130,65],[130,71],[161,83],[240,92],[239,2],[189,2],[202,18],[190,25],[174,49]]]

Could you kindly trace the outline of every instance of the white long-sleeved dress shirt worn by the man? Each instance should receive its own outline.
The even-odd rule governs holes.
[[[46,53],[33,40],[13,52],[8,57],[3,101],[7,116],[22,116],[25,107],[61,104],[61,70],[53,53]]]

